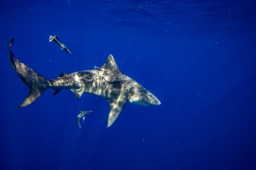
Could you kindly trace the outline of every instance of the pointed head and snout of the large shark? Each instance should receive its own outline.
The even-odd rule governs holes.
[[[129,102],[145,106],[161,104],[159,99],[142,86],[136,88],[135,92],[131,95]]]

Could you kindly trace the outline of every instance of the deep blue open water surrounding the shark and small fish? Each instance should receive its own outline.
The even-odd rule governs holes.
[[[0,169],[256,169],[255,1],[1,1]],[[72,53],[63,52],[57,35]],[[28,94],[9,61],[47,79],[102,66],[161,105],[126,104],[107,128],[106,99]],[[79,110],[93,110],[82,130]]]

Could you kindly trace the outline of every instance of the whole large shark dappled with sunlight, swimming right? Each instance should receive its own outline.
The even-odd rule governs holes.
[[[11,52],[14,39],[10,40],[10,61],[21,80],[29,88],[29,94],[20,107],[33,103],[46,89],[53,89],[56,95],[62,89],[70,89],[79,99],[83,93],[91,93],[106,98],[110,111],[107,127],[110,127],[119,116],[125,103],[140,105],[161,104],[152,93],[138,84],[135,80],[122,74],[109,54],[102,67],[95,70],[78,71],[70,74],[62,73],[59,77],[47,80],[39,73],[19,61]]]

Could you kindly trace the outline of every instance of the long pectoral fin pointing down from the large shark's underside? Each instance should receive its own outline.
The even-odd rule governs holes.
[[[110,127],[119,116],[125,102],[120,100],[108,100],[108,104],[110,106],[110,111],[108,114],[107,127]]]

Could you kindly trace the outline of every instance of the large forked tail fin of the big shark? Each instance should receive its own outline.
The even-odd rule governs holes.
[[[9,53],[10,53],[10,61],[14,67],[14,70],[19,75],[21,80],[26,84],[29,89],[28,96],[19,106],[23,108],[31,103],[33,103],[39,96],[41,96],[42,92],[44,92],[47,87],[49,87],[50,82],[42,77],[42,75],[36,73],[31,68],[20,62],[15,55],[11,52],[11,46],[13,45],[14,39],[10,40],[9,43]]]

